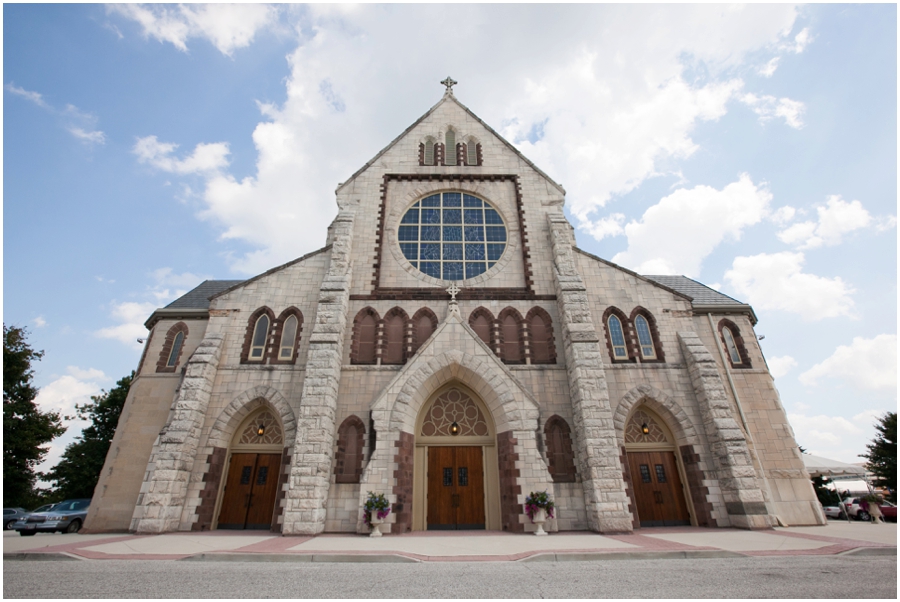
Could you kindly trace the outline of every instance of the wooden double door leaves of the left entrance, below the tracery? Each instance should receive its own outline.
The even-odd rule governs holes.
[[[271,529],[281,454],[231,455],[219,529]]]

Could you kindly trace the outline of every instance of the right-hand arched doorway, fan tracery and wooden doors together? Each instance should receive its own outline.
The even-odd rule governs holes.
[[[690,495],[675,457],[675,439],[662,419],[645,407],[625,423],[625,455],[640,526],[690,525]]]

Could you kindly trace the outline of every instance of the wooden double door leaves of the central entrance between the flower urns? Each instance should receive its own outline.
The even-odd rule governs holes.
[[[428,448],[429,530],[484,529],[481,447]]]

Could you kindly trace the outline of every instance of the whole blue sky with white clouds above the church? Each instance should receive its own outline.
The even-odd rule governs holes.
[[[582,248],[754,306],[801,445],[858,461],[896,411],[895,5],[3,9],[3,319],[44,407],[128,374],[202,280],[324,244],[449,74]]]

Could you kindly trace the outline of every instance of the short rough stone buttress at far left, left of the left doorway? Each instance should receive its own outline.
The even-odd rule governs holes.
[[[146,491],[138,496],[131,524],[138,533],[177,531],[188,482],[200,443],[200,430],[219,368],[221,334],[208,334],[191,355],[175,395],[171,421],[159,434],[148,463]],[[143,488],[142,488],[143,489]]]

